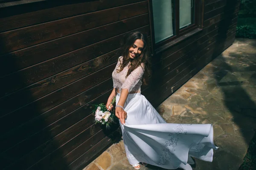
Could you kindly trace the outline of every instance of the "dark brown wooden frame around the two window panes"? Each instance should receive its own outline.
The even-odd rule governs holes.
[[[153,55],[163,51],[170,46],[180,42],[180,40],[186,39],[191,35],[194,35],[197,32],[200,32],[203,28],[203,17],[204,17],[204,0],[194,0],[195,5],[195,19],[194,23],[190,26],[180,29],[180,15],[179,15],[179,0],[175,0],[175,27],[174,33],[172,37],[167,38],[166,40],[162,40],[158,43],[155,43],[155,33],[154,33],[154,19],[153,19],[153,6],[152,0],[148,0],[148,9],[149,9],[149,22],[150,22],[150,30],[151,30],[151,48]],[[191,34],[192,33],[192,34]],[[176,39],[178,39],[176,41]]]

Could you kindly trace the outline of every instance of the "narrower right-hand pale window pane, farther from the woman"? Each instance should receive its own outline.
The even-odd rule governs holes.
[[[191,24],[192,1],[180,0],[180,29]]]

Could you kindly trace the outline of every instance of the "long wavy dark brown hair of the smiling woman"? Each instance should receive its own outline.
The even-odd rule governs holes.
[[[144,43],[143,51],[141,52],[141,54],[138,57],[131,59],[130,54],[129,54],[129,49],[134,45],[134,42],[137,39],[140,39],[143,41],[143,43]],[[148,39],[147,39],[146,35],[144,35],[141,32],[131,32],[131,33],[125,35],[124,45],[121,50],[122,50],[121,52],[122,52],[122,56],[123,56],[123,61],[120,66],[120,69],[117,69],[117,72],[121,72],[124,69],[124,67],[128,65],[128,63],[130,61],[131,65],[130,65],[127,75],[126,75],[126,78],[127,78],[128,75],[130,75],[131,72],[134,71],[134,69],[136,69],[138,66],[141,66],[141,63],[144,63],[145,67],[144,67],[143,83],[148,84],[148,77],[150,76],[151,71],[149,69],[150,54],[149,54],[149,48],[148,48]]]

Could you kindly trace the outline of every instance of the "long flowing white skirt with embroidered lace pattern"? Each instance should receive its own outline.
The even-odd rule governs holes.
[[[120,93],[116,95],[116,104]],[[192,170],[190,156],[212,162],[212,124],[166,123],[140,93],[129,94],[125,101],[127,118],[120,123],[126,156],[130,164],[145,162],[166,169]]]

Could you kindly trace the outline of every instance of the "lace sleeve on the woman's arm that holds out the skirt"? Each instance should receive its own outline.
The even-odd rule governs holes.
[[[130,75],[126,78],[125,82],[122,84],[121,89],[128,89],[128,92],[134,88],[134,86],[140,81],[144,74],[145,66],[142,63],[141,66],[138,66]]]

